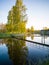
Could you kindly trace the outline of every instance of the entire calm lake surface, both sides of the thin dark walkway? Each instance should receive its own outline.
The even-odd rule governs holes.
[[[49,37],[28,36],[27,40],[49,44]],[[14,38],[0,39],[0,65],[49,65],[49,47]]]

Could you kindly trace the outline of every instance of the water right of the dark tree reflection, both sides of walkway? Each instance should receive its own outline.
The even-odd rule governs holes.
[[[31,38],[32,36],[33,39]],[[32,36],[27,37],[27,39],[49,44],[48,36],[35,36],[35,37],[34,35]],[[30,65],[49,65],[49,47],[45,47],[33,43],[30,44],[30,42],[26,42],[26,45],[29,50],[28,58],[29,58]]]

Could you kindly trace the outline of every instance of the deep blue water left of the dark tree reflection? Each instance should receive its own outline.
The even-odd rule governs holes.
[[[3,39],[0,39],[0,65],[11,65],[12,61],[9,59],[7,46]]]

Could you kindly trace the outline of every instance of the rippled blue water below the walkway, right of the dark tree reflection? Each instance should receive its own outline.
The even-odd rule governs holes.
[[[26,45],[28,46],[30,65],[49,65],[49,48],[30,43],[26,43]]]

